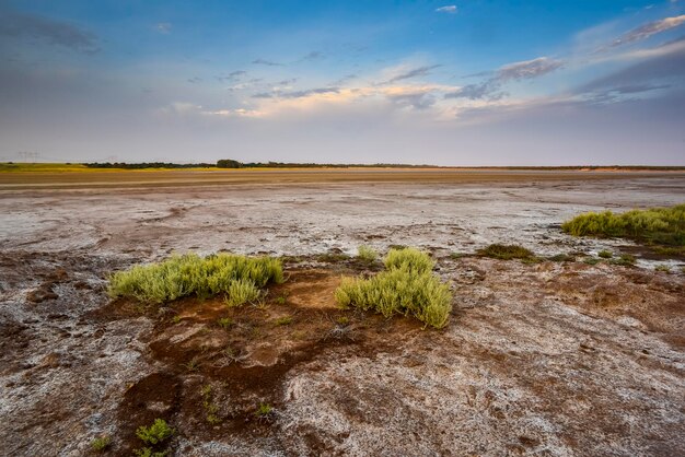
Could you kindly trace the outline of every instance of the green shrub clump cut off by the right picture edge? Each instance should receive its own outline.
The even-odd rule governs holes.
[[[655,245],[685,246],[685,204],[671,208],[589,212],[561,224],[573,236],[630,238]]]

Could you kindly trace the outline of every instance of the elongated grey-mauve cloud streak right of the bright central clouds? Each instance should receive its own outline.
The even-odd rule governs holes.
[[[490,99],[502,98],[506,93],[501,91],[509,81],[530,80],[552,73],[564,67],[564,61],[538,57],[532,60],[508,63],[495,71],[494,75],[475,84],[467,84],[455,92],[444,95],[444,98]],[[490,73],[480,73],[490,74]]]

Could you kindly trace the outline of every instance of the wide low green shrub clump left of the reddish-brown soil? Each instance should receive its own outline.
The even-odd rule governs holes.
[[[201,258],[186,254],[116,272],[109,278],[107,292],[112,297],[128,296],[143,303],[171,302],[193,294],[225,294],[228,303],[234,306],[256,300],[259,288],[268,282],[283,282],[279,259],[224,253]]]

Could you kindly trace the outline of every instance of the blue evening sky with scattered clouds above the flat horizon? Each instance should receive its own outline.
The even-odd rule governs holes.
[[[685,0],[0,0],[0,161],[685,165]]]

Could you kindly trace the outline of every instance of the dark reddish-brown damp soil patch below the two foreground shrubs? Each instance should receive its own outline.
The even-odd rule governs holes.
[[[291,371],[336,356],[348,345],[357,356],[373,356],[392,348],[383,336],[420,331],[419,323],[410,319],[388,321],[339,309],[333,294],[341,274],[351,272],[289,270],[288,281],[270,286],[264,302],[240,307],[229,307],[219,297],[183,298],[159,308],[119,300],[91,313],[94,319],[143,313],[156,320],[143,342],[150,363],[163,368],[127,388],[118,408],[121,444],[113,450],[129,453],[140,446],[136,429],[156,418],[173,423],[184,436],[202,440],[272,435],[274,414],[283,407]],[[260,406],[272,412],[260,413]]]

